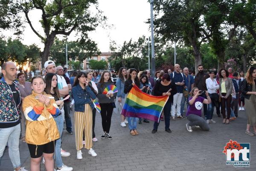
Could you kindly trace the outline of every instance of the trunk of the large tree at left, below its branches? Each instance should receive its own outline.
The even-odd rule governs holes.
[[[52,47],[55,35],[51,34],[44,42],[44,51],[41,52],[41,67],[44,68],[44,63],[48,61],[50,49]]]

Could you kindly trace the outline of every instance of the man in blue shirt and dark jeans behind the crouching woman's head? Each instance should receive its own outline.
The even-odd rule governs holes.
[[[183,97],[181,100],[181,105],[180,105],[180,113],[181,116],[183,116],[184,113],[184,105],[185,105],[185,101],[187,102],[187,108],[189,107],[189,97],[191,94],[191,90],[194,87],[194,78],[192,75],[189,75],[189,69],[188,68],[184,68],[183,69],[183,73],[184,73],[184,80],[185,80],[185,86],[184,86],[184,90],[188,91],[187,94],[183,93]]]

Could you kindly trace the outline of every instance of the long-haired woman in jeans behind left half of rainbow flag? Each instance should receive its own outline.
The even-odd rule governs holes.
[[[128,79],[125,81],[125,89],[124,89],[125,94],[129,93],[134,85],[137,85],[137,87],[140,87],[140,80],[137,77],[137,70],[135,68],[131,68]],[[138,121],[138,118],[128,117],[130,134],[132,136],[139,135],[139,133],[136,130],[137,121]]]

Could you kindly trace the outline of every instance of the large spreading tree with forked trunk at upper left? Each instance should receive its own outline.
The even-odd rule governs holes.
[[[97,0],[13,0],[14,8],[19,14],[25,17],[32,31],[44,43],[44,50],[41,52],[42,66],[48,60],[50,48],[56,35],[68,36],[76,31],[81,42],[87,41],[87,33],[95,30],[96,26],[106,19],[97,8]],[[89,8],[95,6],[96,14],[93,15]],[[35,29],[29,14],[32,10],[40,10],[39,20],[44,34]],[[24,22],[25,23],[25,22]]]

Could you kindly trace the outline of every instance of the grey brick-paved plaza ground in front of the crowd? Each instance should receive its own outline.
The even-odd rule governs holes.
[[[62,148],[70,152],[71,156],[62,159],[74,171],[256,171],[256,136],[244,133],[245,112],[239,111],[239,117],[229,125],[221,124],[222,119],[216,114],[213,119],[217,123],[210,124],[209,132],[193,128],[190,133],[185,126],[188,120],[176,119],[170,121],[172,133],[164,131],[164,122],[160,122],[157,133],[152,134],[153,122],[150,122],[138,124],[140,135],[131,136],[128,127],[120,126],[120,116],[113,113],[110,130],[113,139],[109,140],[100,139],[101,116],[97,113],[95,132],[99,141],[93,142],[93,149],[98,156],[91,157],[83,149],[83,159],[76,159],[75,134],[69,135],[64,130]],[[230,139],[250,143],[250,167],[226,165],[226,156],[222,151]],[[20,158],[22,166],[30,171],[29,151],[24,142],[20,142]],[[11,168],[6,149],[1,158],[0,171],[13,171]],[[41,165],[41,171],[44,170],[44,165]]]

